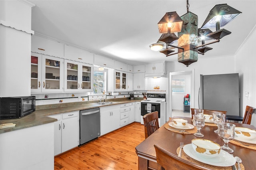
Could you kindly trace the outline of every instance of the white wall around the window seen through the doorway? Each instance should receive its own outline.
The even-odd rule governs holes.
[[[185,79],[185,93],[172,93],[172,109],[183,111],[184,95],[191,93],[191,76],[190,75],[173,75],[172,79]],[[171,81],[170,81],[171,82]]]

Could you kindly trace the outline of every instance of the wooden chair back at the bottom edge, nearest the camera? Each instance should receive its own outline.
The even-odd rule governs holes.
[[[158,170],[212,170],[210,168],[184,160],[164,148],[154,144]]]

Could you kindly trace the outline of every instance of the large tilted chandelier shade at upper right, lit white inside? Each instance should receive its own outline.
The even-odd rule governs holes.
[[[215,28],[218,20],[220,22],[220,27],[223,27],[240,14],[242,14],[242,12],[228,6],[227,4],[215,5],[206,17],[202,28]]]

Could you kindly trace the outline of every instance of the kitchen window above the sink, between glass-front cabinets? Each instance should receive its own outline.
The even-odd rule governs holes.
[[[94,67],[93,93],[102,94],[106,91],[106,71],[99,71]]]

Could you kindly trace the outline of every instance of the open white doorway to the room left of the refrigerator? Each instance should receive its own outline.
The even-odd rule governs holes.
[[[186,87],[186,90],[184,91],[184,93],[172,93],[172,79],[175,78],[175,79],[178,79],[178,77],[180,77],[181,79],[187,79],[187,86],[189,87]],[[185,77],[185,78],[184,78]],[[186,78],[188,77],[188,78]],[[180,110],[183,111],[183,97],[184,95],[186,94],[190,94],[190,108],[194,108],[194,69],[193,70],[190,70],[190,71],[175,71],[175,72],[170,72],[170,78],[169,78],[169,84],[170,84],[170,94],[169,94],[169,117],[173,117],[172,115],[172,111],[173,109],[175,108],[174,107],[174,102],[176,102],[176,100],[178,102],[180,102],[179,104],[179,109],[178,109],[178,112],[175,112],[175,113],[181,113]],[[190,92],[190,93],[188,93]],[[181,97],[177,97],[177,96],[182,96],[182,99]],[[181,106],[182,105],[182,106]],[[190,109],[189,109],[190,110]],[[190,113],[184,113],[184,114],[187,114],[187,117],[191,117],[191,110],[190,110]],[[184,116],[184,114],[180,115],[180,116]],[[174,114],[174,116],[177,116],[177,114]]]

